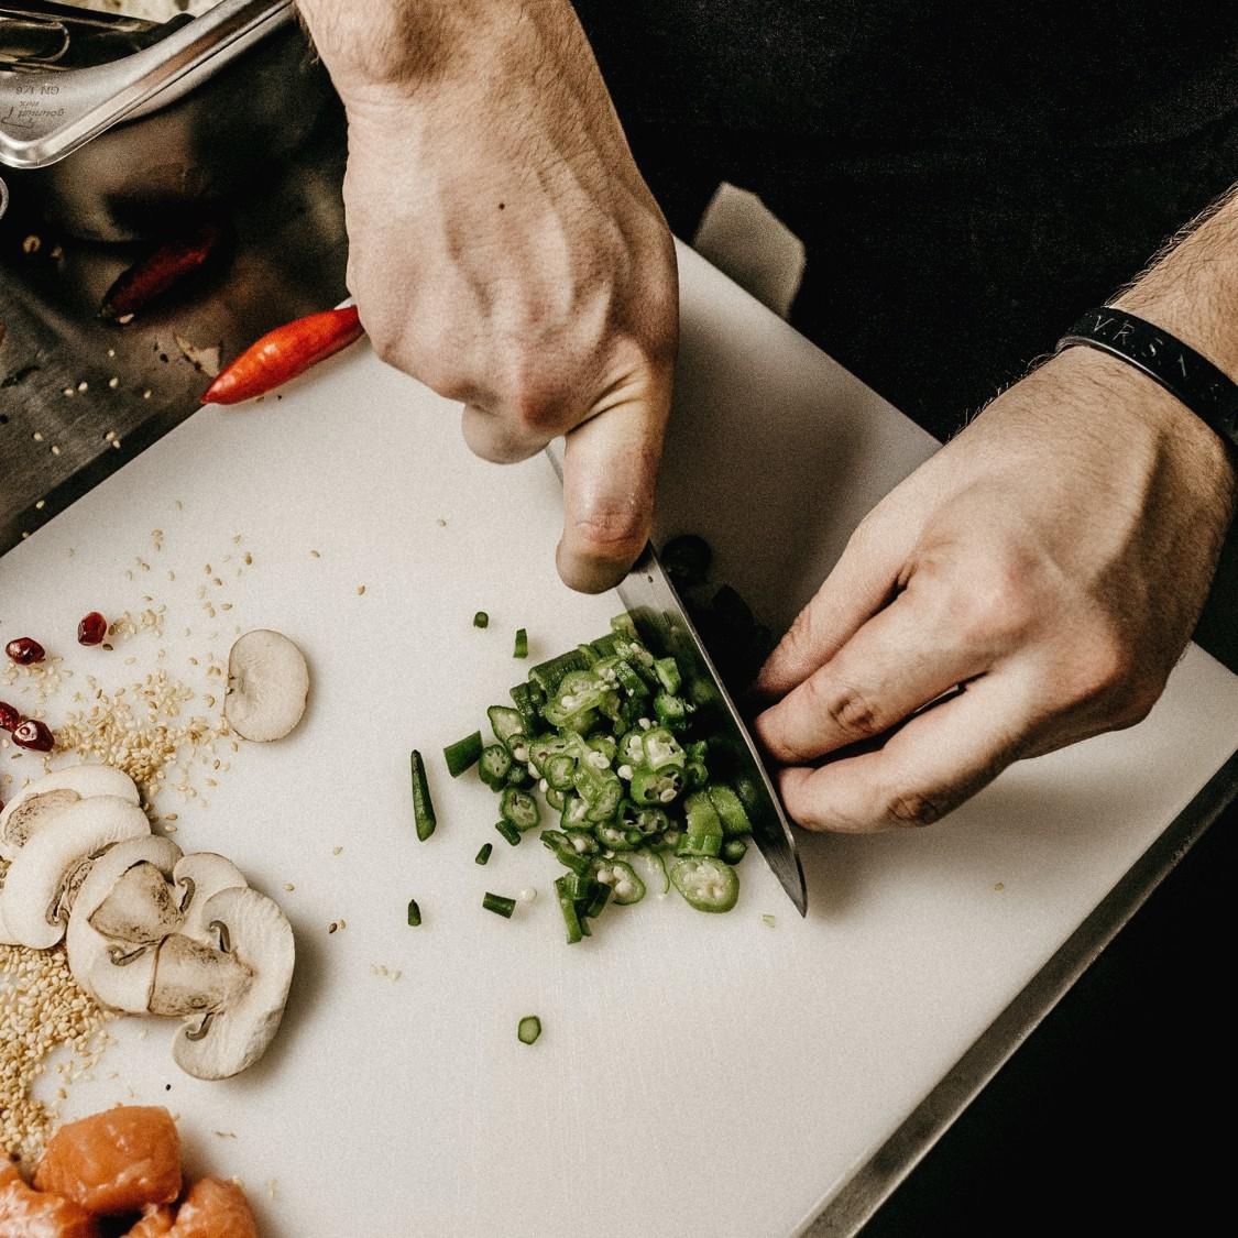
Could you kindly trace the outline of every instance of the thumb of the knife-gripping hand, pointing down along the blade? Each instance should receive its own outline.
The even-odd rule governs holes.
[[[567,433],[563,537],[556,562],[569,588],[613,588],[649,540],[672,366],[645,363]]]

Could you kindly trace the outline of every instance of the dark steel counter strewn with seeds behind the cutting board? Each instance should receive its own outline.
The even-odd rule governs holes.
[[[232,358],[343,297],[343,165],[332,111],[261,192],[227,204],[220,262],[125,327],[99,305],[147,246],[58,234],[15,178],[0,220],[0,553],[197,407],[208,379],[177,335]]]

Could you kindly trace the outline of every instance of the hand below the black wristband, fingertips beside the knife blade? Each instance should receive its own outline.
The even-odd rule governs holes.
[[[1221,439],[1119,360],[1072,348],[1011,386],[865,517],[761,670],[789,813],[928,825],[1014,760],[1139,722],[1234,494]]]

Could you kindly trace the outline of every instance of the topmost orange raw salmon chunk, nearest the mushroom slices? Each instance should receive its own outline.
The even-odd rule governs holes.
[[[181,1139],[167,1109],[118,1106],[52,1136],[35,1186],[80,1203],[97,1216],[141,1212],[181,1193]]]

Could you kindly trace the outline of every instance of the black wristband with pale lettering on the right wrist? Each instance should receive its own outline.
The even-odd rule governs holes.
[[[1167,331],[1125,310],[1088,310],[1057,342],[1056,352],[1087,344],[1143,370],[1226,442],[1238,447],[1238,383]]]

